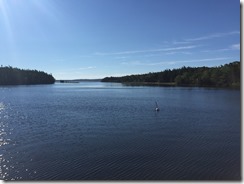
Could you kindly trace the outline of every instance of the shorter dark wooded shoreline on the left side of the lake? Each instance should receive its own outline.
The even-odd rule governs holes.
[[[0,67],[0,85],[53,84],[54,77],[37,70],[23,70],[11,66]]]

